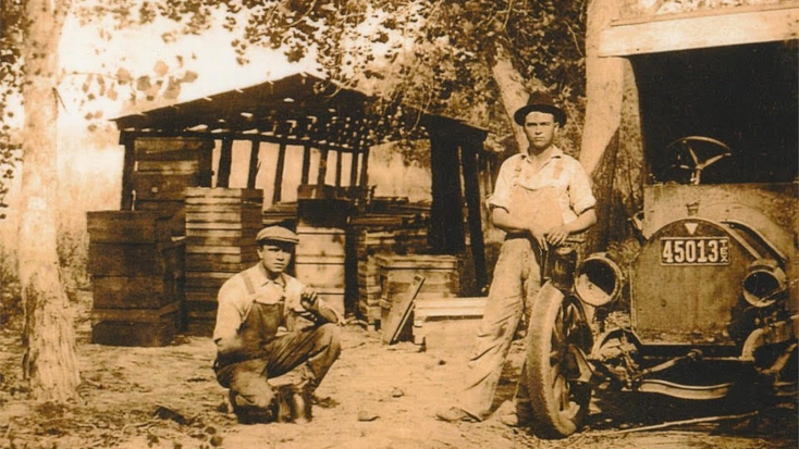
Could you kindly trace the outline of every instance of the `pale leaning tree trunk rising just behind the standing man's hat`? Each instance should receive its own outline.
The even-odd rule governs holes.
[[[530,95],[525,88],[524,79],[519,72],[514,68],[511,62],[511,54],[505,48],[505,43],[497,39],[494,43],[494,53],[492,54],[491,61],[491,73],[494,76],[494,82],[500,87],[500,97],[502,98],[502,104],[505,107],[505,113],[508,116],[511,123],[511,129],[513,129],[514,137],[516,138],[516,145],[518,149],[527,148],[527,137],[520,126],[516,126],[513,121],[513,114],[527,104],[527,99]],[[533,79],[533,85],[537,88],[543,87],[538,79]]]

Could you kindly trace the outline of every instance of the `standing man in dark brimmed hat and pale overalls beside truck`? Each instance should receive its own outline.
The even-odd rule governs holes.
[[[514,121],[524,128],[530,145],[502,164],[494,194],[488,199],[491,221],[507,235],[494,267],[465,388],[459,403],[437,413],[443,421],[482,421],[490,414],[523,313],[527,313],[530,326],[537,325],[536,316],[529,313],[541,288],[545,251],[597,222],[597,200],[582,165],[553,144],[566,123],[564,111],[546,93],[533,92],[516,111]],[[517,386],[515,401],[516,410],[529,410],[524,386]],[[502,421],[508,425],[519,422],[516,413],[502,416]]]

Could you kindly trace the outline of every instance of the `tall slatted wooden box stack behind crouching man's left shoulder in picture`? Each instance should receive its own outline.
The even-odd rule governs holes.
[[[188,333],[209,336],[219,288],[258,261],[262,190],[186,189],[186,307]]]

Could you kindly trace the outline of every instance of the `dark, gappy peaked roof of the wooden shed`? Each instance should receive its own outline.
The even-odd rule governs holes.
[[[378,97],[307,73],[113,121],[123,133],[309,140],[344,150],[358,150],[401,136],[426,137],[425,127],[432,123],[484,132],[398,102],[380,102]]]

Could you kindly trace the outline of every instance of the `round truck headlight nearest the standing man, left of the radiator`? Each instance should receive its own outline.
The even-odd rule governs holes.
[[[589,305],[604,305],[622,295],[622,269],[604,252],[589,255],[575,274],[575,292]]]

